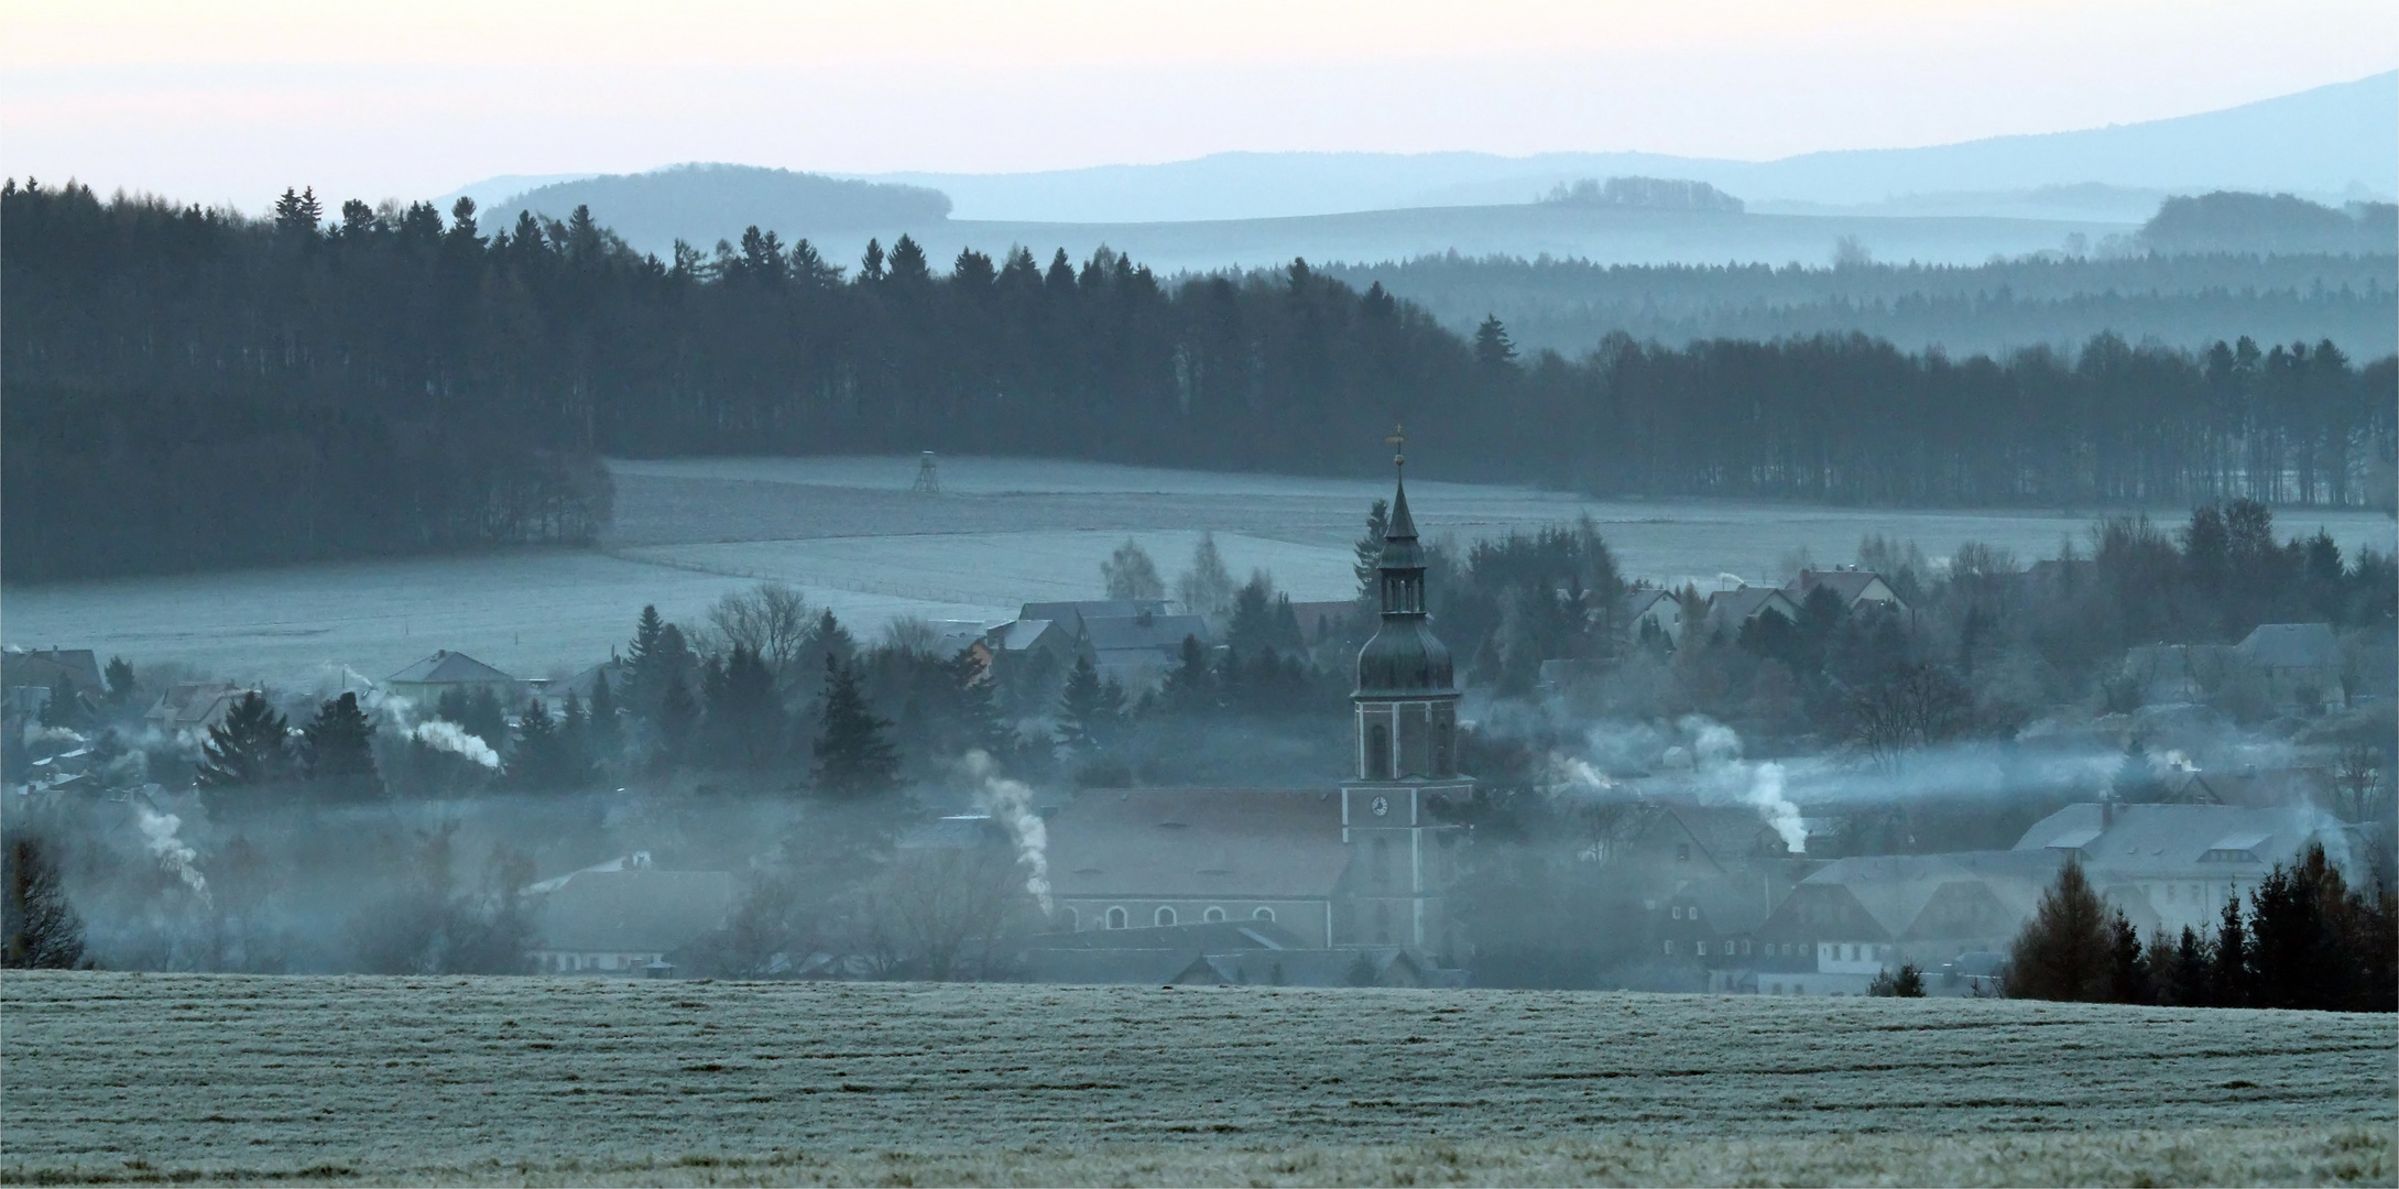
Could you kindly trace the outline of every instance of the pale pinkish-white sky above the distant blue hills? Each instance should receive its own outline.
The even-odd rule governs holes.
[[[679,161],[1250,149],[1775,158],[2229,108],[2399,65],[2389,0],[0,2],[0,173],[257,211]]]

